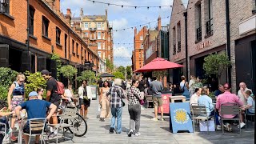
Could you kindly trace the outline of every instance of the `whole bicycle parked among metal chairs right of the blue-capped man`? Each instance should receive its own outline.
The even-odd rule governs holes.
[[[72,109],[76,109],[76,115],[77,115],[77,118],[74,118],[74,128],[75,130],[72,131],[72,129],[70,129],[69,127],[65,128],[66,130],[69,130],[71,134],[74,133],[75,136],[77,137],[82,137],[84,136],[86,133],[87,133],[87,122],[86,120],[82,117],[82,115],[79,114],[79,105],[78,106],[71,106],[70,105],[70,102],[66,102],[66,101],[63,101],[66,103],[66,106],[60,106],[61,110],[63,110],[63,112],[65,113],[65,108],[72,108]],[[70,106],[68,106],[70,105]],[[60,120],[60,118],[58,117],[58,120]],[[66,119],[64,120],[65,123],[69,123],[70,124],[73,124],[72,121]],[[82,130],[81,130],[82,129]]]

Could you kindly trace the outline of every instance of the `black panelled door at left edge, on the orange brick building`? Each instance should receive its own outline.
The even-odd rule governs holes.
[[[0,67],[9,67],[9,45],[0,45]]]

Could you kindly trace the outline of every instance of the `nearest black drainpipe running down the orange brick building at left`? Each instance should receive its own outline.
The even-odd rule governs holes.
[[[28,62],[28,70],[31,72],[31,58],[30,58],[30,1],[27,0],[26,4],[26,18],[27,18],[27,28],[26,28],[26,54],[27,58],[29,58]]]

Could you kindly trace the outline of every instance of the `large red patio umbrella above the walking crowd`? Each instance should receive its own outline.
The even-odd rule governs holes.
[[[173,68],[183,67],[182,65],[167,61],[164,58],[154,58],[150,63],[136,70],[135,72],[146,72],[146,71],[157,71],[157,70],[168,70]]]

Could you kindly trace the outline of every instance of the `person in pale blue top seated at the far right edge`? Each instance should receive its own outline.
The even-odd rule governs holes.
[[[245,110],[247,114],[255,114],[255,102],[253,98],[253,94],[250,90],[246,90],[245,92],[245,98],[247,100],[247,105],[240,107],[242,109],[240,120],[241,120],[241,128],[243,126],[246,126],[245,124]],[[238,126],[239,127],[239,126]]]

